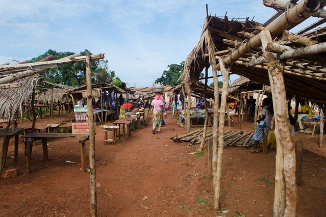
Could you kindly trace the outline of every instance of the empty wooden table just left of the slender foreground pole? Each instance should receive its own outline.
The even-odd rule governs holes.
[[[31,173],[31,165],[30,165],[30,158],[31,158],[31,146],[33,142],[36,140],[42,140],[42,147],[43,147],[43,160],[48,159],[47,155],[47,139],[57,139],[57,138],[81,138],[79,143],[81,144],[81,164],[82,164],[82,171],[86,172],[86,148],[85,143],[89,141],[88,136],[83,135],[72,135],[71,133],[30,133],[22,136],[23,138],[30,138],[24,142],[24,153],[25,153],[25,171],[26,173]]]

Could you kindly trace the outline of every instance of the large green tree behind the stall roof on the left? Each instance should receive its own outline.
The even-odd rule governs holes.
[[[81,56],[85,56],[88,50],[80,52]],[[47,50],[42,55],[33,58],[30,62],[37,62],[49,55],[53,55],[55,60],[73,55],[74,52],[64,51],[57,52],[56,50]],[[115,78],[115,72],[109,70],[107,60],[92,60],[91,61],[92,83],[111,83]],[[86,79],[85,62],[63,64],[58,68],[46,70],[42,75],[48,82],[68,85],[72,87],[85,85]],[[118,77],[117,77],[118,78]],[[119,79],[120,80],[120,79]],[[120,81],[121,82],[121,81]],[[121,82],[122,84],[122,82]]]

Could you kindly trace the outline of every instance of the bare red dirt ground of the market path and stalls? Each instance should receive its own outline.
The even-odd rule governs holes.
[[[40,119],[37,125],[71,118]],[[115,145],[104,144],[103,130],[97,125],[98,216],[272,216],[275,150],[251,154],[250,148],[226,147],[220,204],[222,210],[230,211],[214,211],[212,180],[205,178],[207,151],[203,157],[195,157],[189,153],[198,145],[171,142],[169,137],[185,130],[171,113],[165,121],[162,134],[153,135],[151,126],[142,127],[128,142]],[[252,129],[252,124],[242,124],[242,130]],[[298,216],[326,216],[326,138],[324,147],[318,148],[318,137],[319,133],[295,136],[305,149]],[[23,143],[19,144],[17,163],[10,158],[14,153],[11,142],[5,170],[15,168],[18,176],[0,179],[0,216],[89,215],[89,173],[80,169],[78,139],[50,140],[48,149],[49,160],[43,161],[42,146],[33,147],[32,173],[24,174]]]

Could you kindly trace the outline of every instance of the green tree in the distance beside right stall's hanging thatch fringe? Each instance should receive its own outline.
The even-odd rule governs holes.
[[[155,80],[155,83],[162,84],[162,85],[171,85],[171,86],[179,85],[181,83],[181,80],[179,80],[178,82],[178,79],[183,72],[184,65],[185,62],[181,62],[179,65],[178,64],[168,65],[167,67],[169,69],[164,70],[162,76],[160,78],[157,78]]]

